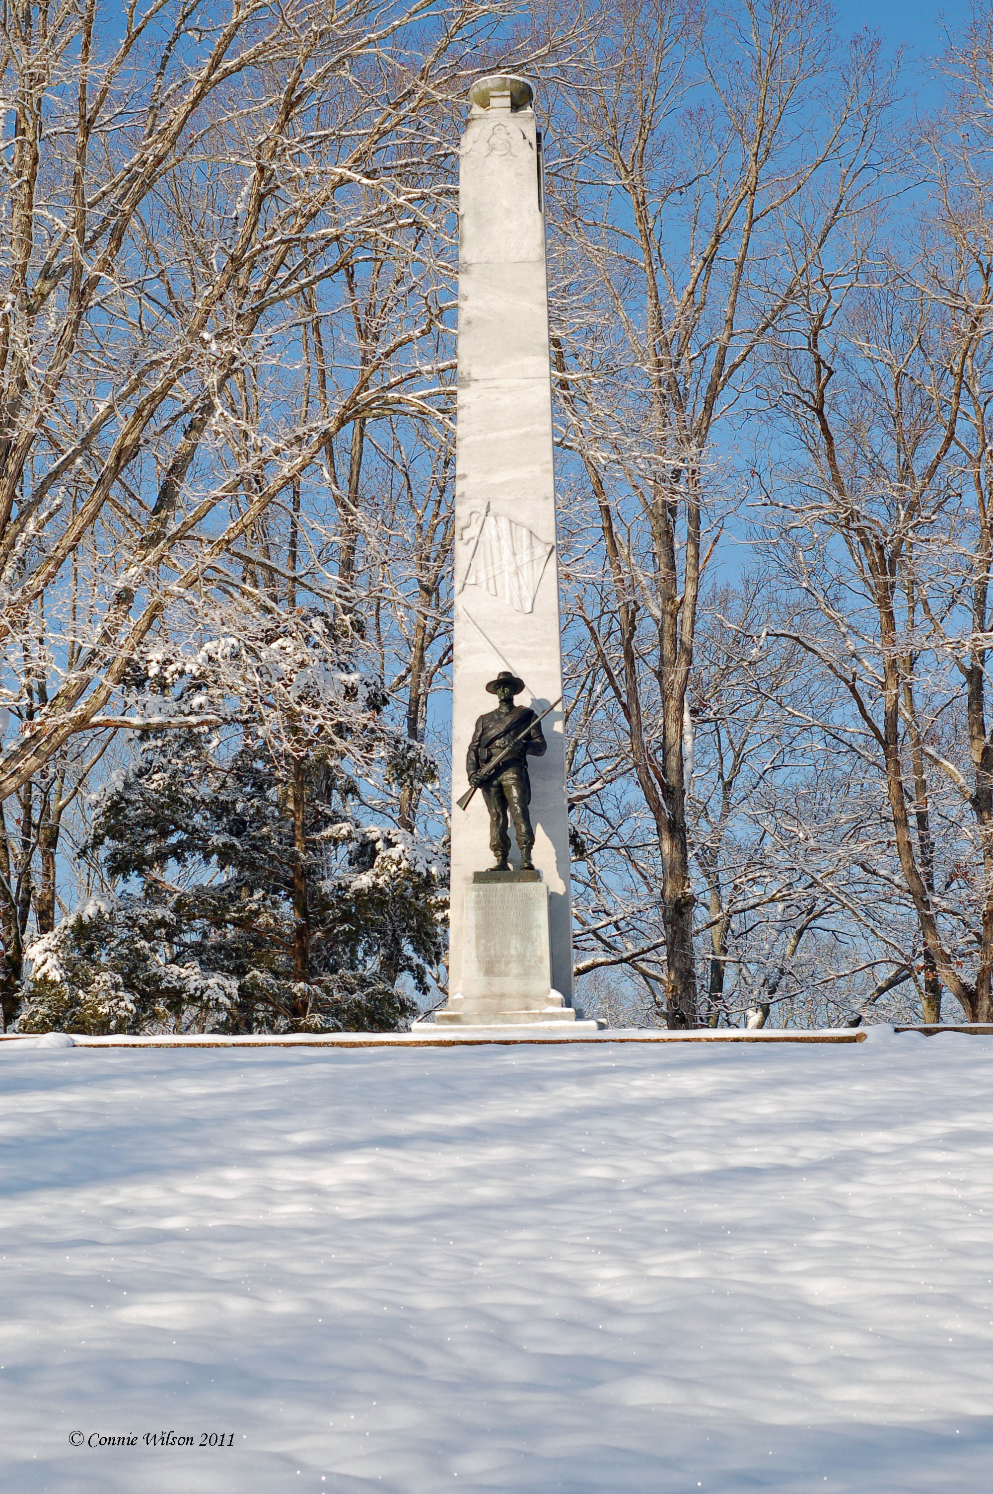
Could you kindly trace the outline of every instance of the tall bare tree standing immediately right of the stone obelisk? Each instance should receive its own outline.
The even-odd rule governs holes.
[[[576,617],[648,808],[672,1026],[699,1017],[685,768],[729,500],[714,442],[806,267],[878,190],[875,63],[820,4],[645,0],[599,15],[557,103],[554,378],[602,545]]]

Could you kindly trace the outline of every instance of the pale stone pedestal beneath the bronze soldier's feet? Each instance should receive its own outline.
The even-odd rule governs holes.
[[[439,1026],[575,1025],[551,985],[548,887],[539,871],[476,871],[463,928],[461,991],[436,1013]]]

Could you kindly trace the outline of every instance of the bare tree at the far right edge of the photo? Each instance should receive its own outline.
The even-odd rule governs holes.
[[[993,1013],[989,19],[948,66],[956,109],[917,155],[933,209],[856,276],[815,263],[771,391],[808,457],[776,500],[808,601],[796,641],[844,687],[839,740],[884,787],[888,840],[862,861],[912,907],[932,1022],[942,988]]]

